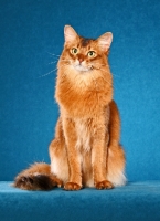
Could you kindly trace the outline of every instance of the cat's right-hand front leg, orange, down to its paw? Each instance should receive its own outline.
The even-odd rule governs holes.
[[[94,183],[97,189],[111,189],[113,183],[106,179],[108,133],[106,133],[105,124],[97,124],[95,128],[92,148]]]

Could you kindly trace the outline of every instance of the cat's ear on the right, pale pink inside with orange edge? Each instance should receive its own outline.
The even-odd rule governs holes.
[[[106,32],[102,36],[98,38],[98,44],[102,51],[107,52],[108,49],[110,48],[113,42],[113,33],[111,32]]]

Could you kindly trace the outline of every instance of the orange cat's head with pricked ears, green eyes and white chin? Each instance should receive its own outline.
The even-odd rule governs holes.
[[[92,72],[107,65],[113,34],[106,32],[98,39],[85,39],[79,36],[71,25],[64,27],[65,44],[61,62],[79,73]]]

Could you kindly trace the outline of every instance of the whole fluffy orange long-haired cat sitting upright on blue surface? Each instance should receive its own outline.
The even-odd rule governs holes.
[[[51,166],[34,164],[15,177],[14,187],[79,190],[122,186],[125,154],[108,65],[113,34],[84,39],[65,25],[64,35],[55,90],[61,115],[50,145]]]

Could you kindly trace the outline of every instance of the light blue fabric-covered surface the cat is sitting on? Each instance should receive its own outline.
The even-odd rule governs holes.
[[[160,181],[114,190],[24,191],[0,182],[2,221],[159,221]]]

